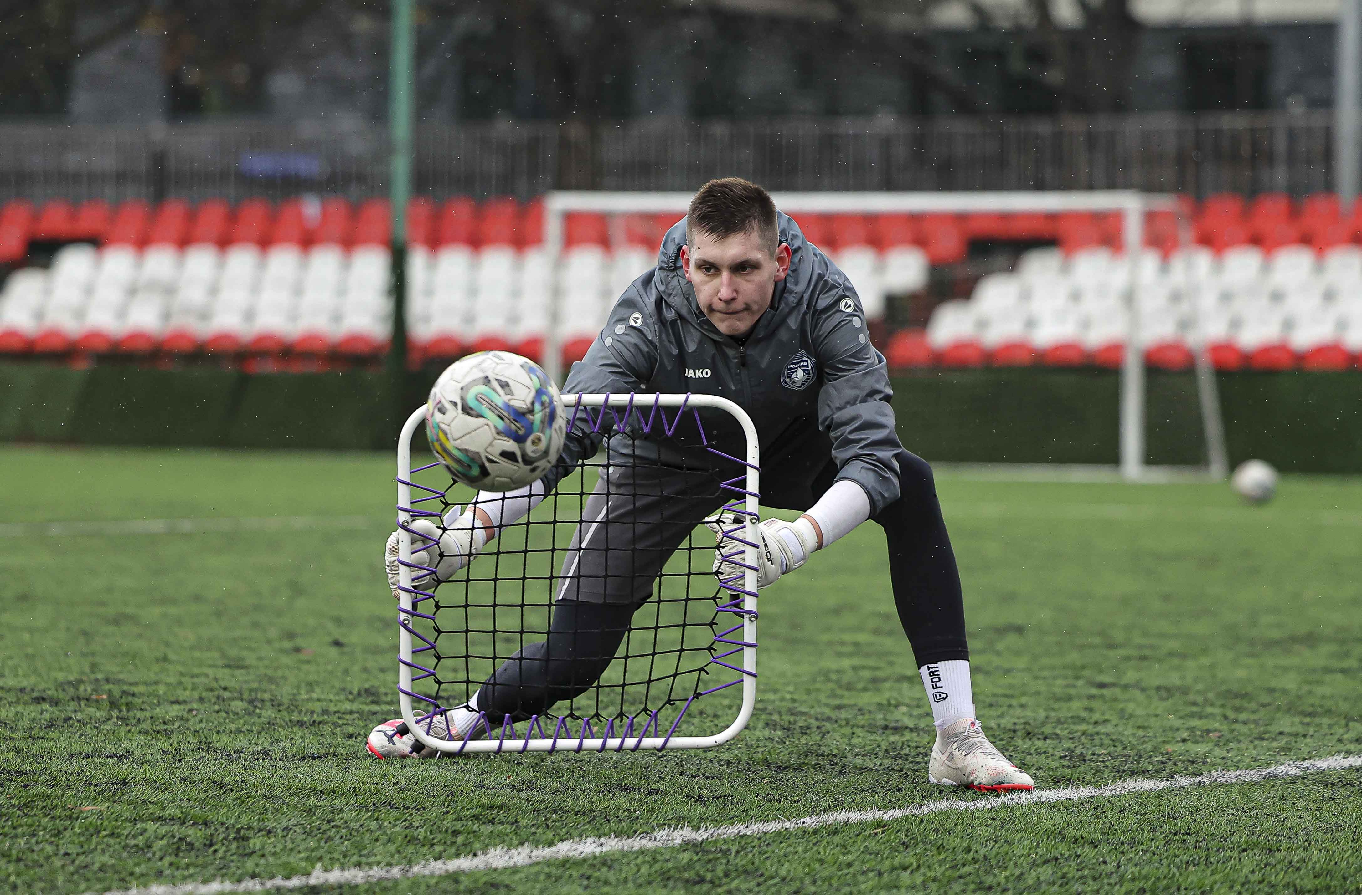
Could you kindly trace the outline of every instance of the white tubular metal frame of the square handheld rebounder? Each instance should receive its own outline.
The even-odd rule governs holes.
[[[565,395],[564,403],[572,405],[577,401],[576,395]],[[399,591],[399,603],[402,610],[398,613],[398,629],[400,631],[398,639],[398,654],[405,662],[398,663],[398,687],[399,687],[399,703],[402,706],[402,718],[407,722],[407,726],[413,730],[417,740],[419,740],[426,748],[437,749],[440,752],[575,752],[575,753],[603,753],[603,752],[633,752],[637,749],[703,749],[708,747],[716,747],[727,742],[733,737],[738,736],[744,727],[748,726],[748,719],[752,718],[752,710],[756,706],[757,685],[756,685],[756,672],[757,672],[757,621],[756,621],[756,588],[757,588],[757,494],[761,488],[761,471],[759,469],[761,456],[757,443],[757,430],[752,425],[752,418],[746,414],[742,407],[733,403],[727,398],[719,398],[716,395],[580,395],[580,406],[583,409],[592,407],[601,409],[603,413],[605,407],[632,407],[635,411],[651,411],[654,406],[659,409],[691,409],[691,407],[710,407],[716,410],[723,410],[729,413],[738,424],[742,426],[742,432],[746,436],[746,475],[744,489],[746,496],[742,500],[742,507],[745,512],[746,527],[744,530],[744,538],[749,542],[746,546],[746,571],[744,574],[744,590],[748,591],[742,595],[742,640],[744,643],[753,646],[742,647],[742,707],[738,711],[738,717],[727,727],[716,734],[708,737],[689,737],[689,736],[670,736],[665,730],[658,730],[656,736],[614,736],[609,738],[595,737],[595,738],[582,738],[576,736],[560,736],[556,738],[527,738],[511,734],[509,730],[501,736],[501,732],[496,730],[494,737],[490,740],[437,740],[430,737],[425,730],[421,729],[417,722],[417,714],[414,712],[413,699],[406,691],[411,691],[411,668],[405,662],[411,662],[411,632],[407,629],[403,620],[409,618],[407,613],[411,612],[411,594],[406,590],[411,587],[411,568],[407,563],[411,561],[411,535],[406,529],[411,524],[411,514],[409,508],[411,507],[411,486],[406,482],[411,481],[411,435],[417,430],[417,426],[425,424],[425,407],[418,407],[411,411],[407,417],[406,425],[402,426],[402,435],[398,439],[398,556],[402,560],[399,565],[400,583],[405,590]],[[661,411],[659,411],[661,413]],[[680,410],[678,410],[680,413]],[[734,475],[737,478],[737,475]],[[731,505],[733,501],[730,501]],[[659,722],[661,723],[661,722]],[[669,722],[670,723],[670,722]],[[640,732],[642,733],[642,732]],[[501,736],[501,738],[497,738]]]

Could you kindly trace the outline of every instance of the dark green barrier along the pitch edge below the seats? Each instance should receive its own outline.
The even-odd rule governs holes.
[[[434,372],[414,373],[415,407]],[[1362,375],[1226,373],[1231,463],[1362,473]],[[71,371],[0,364],[0,440],[67,444],[388,450],[396,440],[383,373]],[[929,460],[1115,463],[1120,377],[1109,371],[923,371],[893,381],[899,435]],[[1196,384],[1150,372],[1151,463],[1204,462]]]

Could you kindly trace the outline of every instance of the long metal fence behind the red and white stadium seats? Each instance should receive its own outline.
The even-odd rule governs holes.
[[[918,120],[421,125],[415,191],[553,188],[1107,189],[1205,196],[1329,189],[1328,112]],[[379,124],[0,125],[0,199],[349,198],[387,192]]]

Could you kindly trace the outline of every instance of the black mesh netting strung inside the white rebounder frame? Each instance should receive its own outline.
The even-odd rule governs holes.
[[[567,401],[572,415],[575,398]],[[621,414],[592,413],[603,413],[603,426],[625,429],[617,426]],[[464,706],[508,658],[545,642],[554,601],[565,595],[633,601],[639,608],[595,684],[508,719],[538,725],[533,734],[519,725],[516,737],[552,738],[554,730],[558,736],[569,730],[575,738],[583,729],[588,737],[602,736],[607,726],[614,736],[629,726],[639,736],[650,722],[648,736],[666,736],[680,714],[710,714],[692,704],[696,696],[716,691],[723,696],[706,700],[707,710],[716,708],[715,702],[727,703],[731,719],[731,704],[741,693],[734,684],[742,677],[744,610],[741,598],[720,588],[712,575],[715,537],[703,520],[723,507],[742,508],[746,467],[737,458],[703,450],[689,463],[677,462],[676,455],[684,452],[669,455],[665,465],[637,459],[656,454],[655,445],[635,451],[637,440],[680,437],[682,426],[692,439],[699,433],[699,414],[671,413],[676,417],[666,425],[617,430],[597,456],[565,475],[528,516],[504,524],[448,580],[415,583],[415,605],[407,617],[414,633],[411,695],[424,703],[418,715]],[[474,497],[439,465],[417,470],[411,484],[417,485],[413,519],[452,520],[458,512],[449,511]],[[413,550],[426,544],[413,537]],[[545,658],[561,657],[550,647]]]

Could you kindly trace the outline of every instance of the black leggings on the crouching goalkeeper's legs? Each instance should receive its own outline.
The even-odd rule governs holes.
[[[919,668],[967,659],[960,574],[932,467],[908,451],[900,451],[898,459],[899,499],[881,509],[874,522],[884,529],[888,542],[889,582],[899,621]],[[836,467],[829,463],[816,477],[813,493],[825,492],[835,478]],[[531,643],[507,659],[478,692],[478,708],[498,725],[504,717],[524,721],[542,715],[557,702],[580,696],[610,665],[640,605],[558,601],[548,640]]]

